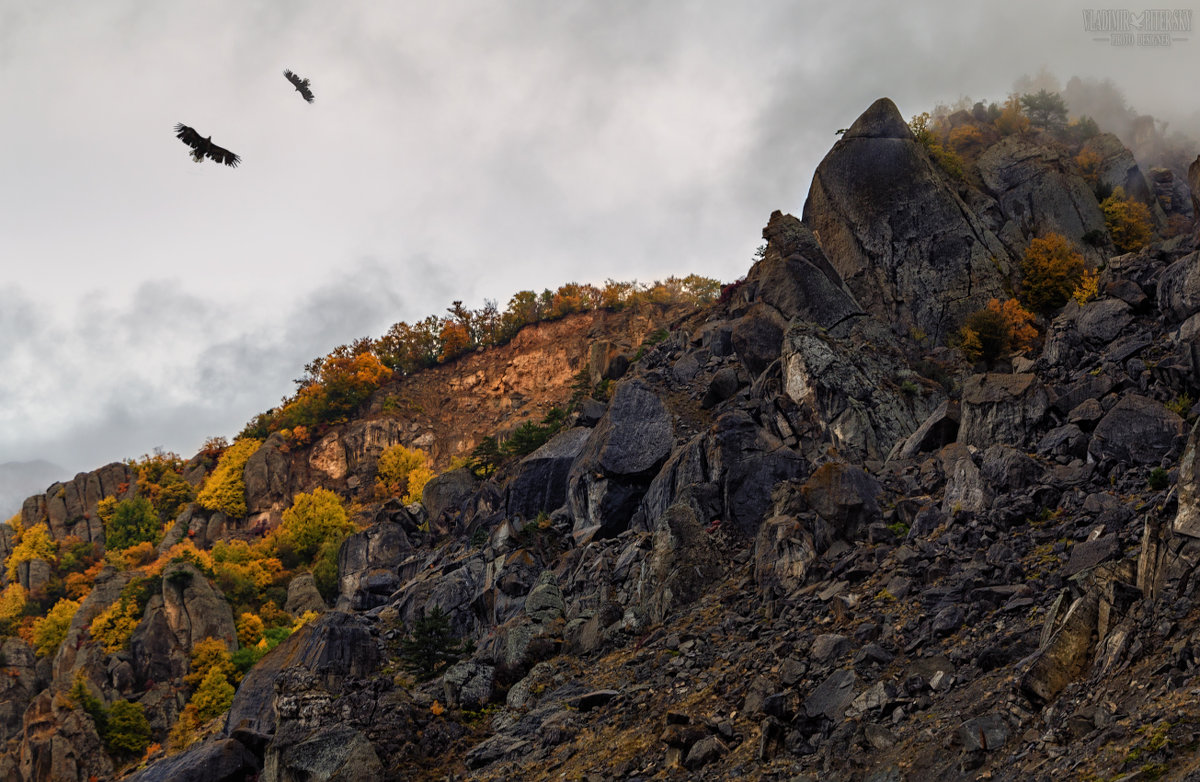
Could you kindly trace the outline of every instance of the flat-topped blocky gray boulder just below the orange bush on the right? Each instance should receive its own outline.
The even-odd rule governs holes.
[[[1020,446],[1050,409],[1050,397],[1033,374],[976,374],[962,383],[959,443]]]

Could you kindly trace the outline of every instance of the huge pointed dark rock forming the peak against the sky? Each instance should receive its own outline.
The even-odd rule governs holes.
[[[1003,293],[1012,266],[1008,249],[946,185],[888,98],[817,167],[804,223],[859,305],[938,342]]]

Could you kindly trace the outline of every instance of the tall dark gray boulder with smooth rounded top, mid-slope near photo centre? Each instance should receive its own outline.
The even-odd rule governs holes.
[[[568,494],[576,536],[626,529],[673,439],[671,415],[646,384],[618,385],[571,465]]]

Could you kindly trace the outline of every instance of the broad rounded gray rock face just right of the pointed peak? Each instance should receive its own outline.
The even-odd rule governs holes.
[[[1066,155],[1019,136],[979,156],[979,176],[1006,219],[1000,239],[1014,254],[1033,235],[1054,231],[1079,243],[1087,231],[1104,230],[1096,196],[1073,168]]]

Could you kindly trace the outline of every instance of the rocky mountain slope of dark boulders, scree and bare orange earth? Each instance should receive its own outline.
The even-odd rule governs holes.
[[[1096,184],[1039,133],[952,176],[883,98],[803,219],[772,215],[745,279],[655,344],[659,323],[577,315],[384,386],[310,444],[272,435],[246,512],[187,505],[160,552],[254,540],[330,489],[359,523],[336,595],[287,589],[289,614],[320,615],[187,748],[121,759],[74,682],[139,704],[166,746],[196,649],[239,628],[220,579],[172,560],[109,651],[96,618],[137,576],[101,571],[53,655],[4,642],[0,777],[1193,778],[1200,252],[1163,235],[1200,212],[1178,197],[1200,160],[1154,185],[1087,143]],[[1121,253],[1096,190],[1136,182],[1158,236]],[[1024,354],[968,362],[959,327],[1050,231],[1098,295]],[[528,456],[445,471],[419,504],[374,493],[385,447],[446,467],[584,377],[596,396]],[[104,498],[139,491],[109,465],[26,500],[20,527],[100,543]],[[12,578],[36,590],[49,565]],[[422,680],[404,663],[434,610],[472,643]]]

